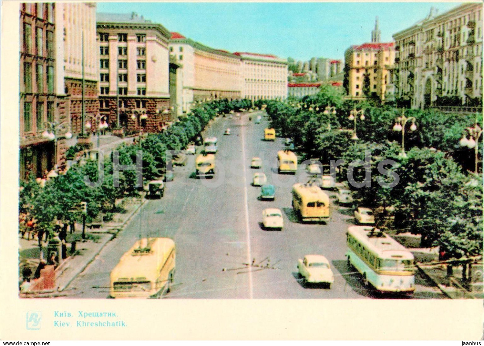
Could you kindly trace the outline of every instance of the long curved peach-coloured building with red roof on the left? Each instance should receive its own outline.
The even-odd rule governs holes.
[[[240,58],[171,33],[170,54],[183,65],[183,111],[194,101],[241,97]]]

